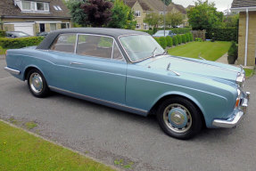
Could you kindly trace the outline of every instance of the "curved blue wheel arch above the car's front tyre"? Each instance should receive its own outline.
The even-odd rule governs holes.
[[[202,105],[193,96],[191,96],[189,94],[184,94],[184,93],[180,93],[180,92],[169,92],[169,93],[166,93],[166,94],[162,94],[158,98],[158,100],[153,103],[153,107],[151,108],[149,113],[155,114],[156,110],[158,109],[158,107],[161,104],[161,102],[165,101],[166,99],[175,98],[175,97],[182,97],[182,98],[185,98],[186,100],[194,103],[194,106],[200,111],[200,115],[202,117],[203,126],[206,126],[205,111],[203,110]]]

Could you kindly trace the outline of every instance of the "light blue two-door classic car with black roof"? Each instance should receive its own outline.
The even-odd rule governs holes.
[[[244,69],[167,54],[147,33],[68,28],[38,46],[8,50],[5,69],[27,80],[31,94],[51,91],[147,116],[178,139],[208,128],[234,127],[250,93]]]

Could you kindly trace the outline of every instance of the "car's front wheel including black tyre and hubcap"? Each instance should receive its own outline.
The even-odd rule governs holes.
[[[182,97],[162,102],[157,111],[157,118],[166,134],[182,140],[192,138],[202,128],[200,110],[193,102]]]

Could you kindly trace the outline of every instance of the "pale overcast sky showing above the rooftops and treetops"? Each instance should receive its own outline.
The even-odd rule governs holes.
[[[194,4],[194,1],[197,2],[197,0],[172,0],[173,3],[182,4],[184,7],[188,6],[189,4]],[[231,7],[233,0],[209,0],[209,2],[214,2],[215,6],[218,8],[218,11],[223,12],[224,10],[227,10],[227,8]]]

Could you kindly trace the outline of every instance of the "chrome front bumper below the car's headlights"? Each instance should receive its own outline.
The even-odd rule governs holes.
[[[246,92],[244,95],[245,97],[240,106],[240,110],[235,114],[235,117],[232,120],[214,119],[212,121],[212,125],[217,127],[225,127],[225,128],[235,127],[243,118],[248,107],[248,102],[250,100],[250,92]]]

